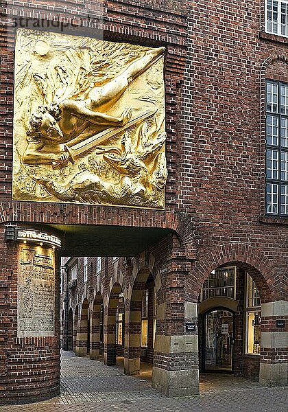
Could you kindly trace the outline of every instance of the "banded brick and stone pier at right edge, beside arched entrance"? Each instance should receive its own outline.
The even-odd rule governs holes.
[[[287,385],[288,365],[288,302],[262,305],[261,360],[259,382],[265,385]],[[277,328],[285,321],[284,328]],[[278,324],[278,326],[280,326]]]

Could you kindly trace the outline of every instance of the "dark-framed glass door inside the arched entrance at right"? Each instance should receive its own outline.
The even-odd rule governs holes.
[[[204,370],[232,371],[234,314],[216,309],[204,315]]]

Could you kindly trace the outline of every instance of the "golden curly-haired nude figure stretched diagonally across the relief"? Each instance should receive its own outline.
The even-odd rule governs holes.
[[[112,116],[106,112],[121,97],[129,84],[147,70],[160,56],[165,47],[151,49],[141,58],[128,65],[118,76],[101,86],[88,91],[84,100],[63,100],[47,106],[40,106],[32,113],[31,129],[27,131],[27,148],[22,157],[27,165],[47,164],[62,168],[73,163],[73,157],[66,144],[86,139],[84,130],[95,126],[94,133],[110,127],[121,127],[132,117],[132,108],[127,107],[121,115]]]

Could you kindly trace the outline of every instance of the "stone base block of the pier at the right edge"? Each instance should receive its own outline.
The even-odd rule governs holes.
[[[260,363],[259,382],[270,386],[287,385],[287,363]]]

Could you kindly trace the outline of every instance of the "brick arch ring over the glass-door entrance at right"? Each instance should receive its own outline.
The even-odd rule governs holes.
[[[263,302],[274,300],[273,283],[276,278],[276,270],[273,262],[252,245],[236,242],[221,245],[202,255],[202,258],[197,261],[189,282],[193,286],[193,296],[195,298],[199,296],[208,274],[215,268],[227,263],[238,264],[252,276],[259,288]]]

